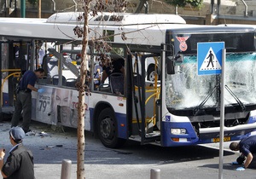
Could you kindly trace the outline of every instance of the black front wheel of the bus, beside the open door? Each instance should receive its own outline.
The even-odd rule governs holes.
[[[110,107],[103,109],[100,113],[97,122],[97,133],[105,147],[121,147],[126,141],[118,137],[117,121]]]

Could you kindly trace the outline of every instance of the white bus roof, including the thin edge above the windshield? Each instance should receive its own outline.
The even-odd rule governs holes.
[[[12,40],[44,40],[58,43],[81,43],[82,38],[74,34],[75,26],[83,22],[76,19],[79,13],[53,14],[49,19],[0,18],[0,36]],[[102,21],[102,18],[105,18]],[[160,46],[166,43],[166,31],[170,32],[228,32],[246,31],[250,26],[205,26],[188,25],[173,14],[122,14],[119,21],[112,20],[109,13],[90,16],[90,39],[102,39],[103,33],[112,36],[111,42]],[[159,18],[158,18],[159,17]],[[177,17],[177,19],[172,17]],[[125,24],[125,26],[124,26]]]

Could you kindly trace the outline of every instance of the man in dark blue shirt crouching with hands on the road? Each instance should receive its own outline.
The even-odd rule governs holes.
[[[256,136],[248,136],[238,142],[231,142],[230,149],[233,151],[240,151],[241,157],[245,156],[247,159],[244,163],[244,167],[239,167],[236,170],[245,170],[248,165],[253,161],[253,153],[256,153]]]

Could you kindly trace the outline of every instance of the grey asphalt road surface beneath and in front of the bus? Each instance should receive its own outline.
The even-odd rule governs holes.
[[[61,178],[61,162],[72,161],[71,178],[76,178],[77,138],[76,130],[53,130],[47,124],[32,123],[33,136],[26,136],[24,144],[32,150],[37,179]],[[0,123],[0,147],[7,151],[9,143],[9,121]],[[224,144],[227,148],[229,143]],[[160,169],[160,178],[216,179],[218,170],[218,143],[207,146],[158,147],[141,146],[138,142],[128,141],[124,147],[110,149],[102,145],[91,133],[85,134],[85,177],[87,179],[144,179],[150,178],[151,169]],[[255,169],[236,171],[230,165],[238,153],[224,150],[224,179],[255,179]],[[1,176],[0,176],[0,179]]]

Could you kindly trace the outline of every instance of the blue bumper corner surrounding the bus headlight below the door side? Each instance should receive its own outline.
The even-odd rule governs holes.
[[[173,135],[171,134],[171,129],[186,129],[187,134]],[[190,123],[162,122],[161,130],[161,143],[164,147],[193,145],[199,140],[195,134],[193,126]],[[183,138],[187,139],[187,141],[172,141],[172,138]]]

